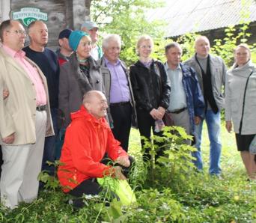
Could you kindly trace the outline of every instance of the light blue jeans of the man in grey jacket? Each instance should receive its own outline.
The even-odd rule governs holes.
[[[214,114],[211,109],[208,109],[204,119],[207,123],[208,136],[210,139],[210,174],[220,174],[222,169],[220,168],[220,156],[222,153],[222,144],[220,141],[220,129],[221,129],[221,120],[220,112]],[[201,135],[203,128],[204,120],[201,121],[198,125],[195,126],[195,147],[198,151],[192,153],[192,156],[196,160],[193,160],[195,167],[198,170],[203,168],[203,161],[201,158]]]

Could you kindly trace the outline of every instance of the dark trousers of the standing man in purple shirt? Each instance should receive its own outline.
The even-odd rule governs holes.
[[[115,103],[110,104],[109,107],[114,122],[113,135],[121,142],[121,147],[127,151],[132,123],[132,106],[130,103]]]

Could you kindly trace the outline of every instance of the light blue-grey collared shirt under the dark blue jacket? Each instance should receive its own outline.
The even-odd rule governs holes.
[[[168,64],[165,63],[165,70],[171,82],[171,96],[168,110],[173,112],[178,109],[183,109],[186,107],[186,94],[183,88],[180,64],[175,70],[172,70],[168,67]]]

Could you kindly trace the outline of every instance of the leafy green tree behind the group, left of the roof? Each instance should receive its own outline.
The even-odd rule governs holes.
[[[149,34],[155,40],[156,52],[163,40],[163,22],[147,21],[145,12],[163,5],[159,0],[104,0],[91,1],[91,18],[100,25],[101,33],[119,34],[123,46],[121,58],[127,65],[136,61],[135,43],[141,34]],[[159,41],[160,40],[160,41]],[[159,58],[159,55],[155,55]]]

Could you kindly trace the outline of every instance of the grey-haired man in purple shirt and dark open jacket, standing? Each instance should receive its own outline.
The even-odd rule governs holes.
[[[128,150],[131,125],[136,125],[135,103],[129,80],[129,73],[124,62],[119,59],[121,37],[109,34],[103,39],[103,58],[99,63],[107,67],[109,78],[103,77],[106,94],[109,93],[109,108],[113,118],[112,132],[121,147]],[[108,96],[107,96],[108,97]]]

